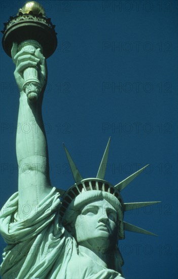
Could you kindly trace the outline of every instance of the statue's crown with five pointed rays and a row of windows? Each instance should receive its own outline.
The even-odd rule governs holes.
[[[111,183],[108,181],[104,180],[105,176],[105,165],[108,161],[108,153],[109,153],[109,148],[110,148],[110,142],[111,142],[111,137],[109,138],[108,144],[105,148],[104,155],[102,157],[97,176],[96,178],[87,178],[83,179],[76,164],[74,163],[72,157],[70,156],[68,150],[64,146],[65,153],[68,159],[68,163],[70,166],[70,169],[73,173],[73,177],[75,180],[75,184],[70,187],[67,191],[64,191],[62,189],[58,189],[59,193],[62,196],[62,204],[60,208],[60,215],[61,218],[64,216],[68,206],[70,203],[78,196],[81,195],[87,191],[101,191],[101,192],[106,192],[109,195],[115,196],[119,203],[122,206],[123,213],[125,211],[130,211],[134,210],[139,207],[144,207],[148,205],[152,205],[155,203],[158,203],[160,201],[149,201],[149,202],[131,202],[131,203],[124,203],[122,196],[120,192],[132,181],[134,180],[148,165],[144,166],[143,168],[137,170],[134,172],[131,176],[127,177],[125,180],[121,181],[117,185],[113,186]],[[138,232],[138,233],[143,233],[143,234],[150,234],[150,235],[156,235],[152,232],[149,232],[145,229],[141,229],[137,226],[131,225],[127,222],[124,222],[123,220],[120,220],[124,223],[124,230],[132,231],[132,232]]]

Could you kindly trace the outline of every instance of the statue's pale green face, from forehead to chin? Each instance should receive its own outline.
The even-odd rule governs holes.
[[[81,214],[77,217],[76,240],[86,246],[87,242],[99,243],[99,241],[117,242],[117,212],[105,199],[90,202],[85,205]],[[109,243],[112,245],[112,243]]]

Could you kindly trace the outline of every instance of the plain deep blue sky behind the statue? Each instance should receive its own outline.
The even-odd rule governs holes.
[[[105,179],[150,166],[124,202],[162,203],[125,214],[158,237],[126,232],[128,279],[177,278],[177,2],[39,1],[58,33],[43,103],[53,186],[74,184],[64,142],[83,178],[95,177],[112,137]],[[1,28],[23,1],[1,1]],[[1,46],[1,205],[17,191],[19,93]],[[21,128],[21,127],[20,127]],[[4,247],[2,240],[1,248]]]

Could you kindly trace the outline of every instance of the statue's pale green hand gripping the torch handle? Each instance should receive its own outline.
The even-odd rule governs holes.
[[[42,92],[44,92],[46,82],[47,82],[47,66],[46,66],[46,59],[43,56],[41,49],[29,49],[25,50],[22,49],[17,52],[17,43],[13,43],[13,47],[11,50],[11,55],[13,62],[16,64],[16,69],[14,72],[14,76],[17,82],[17,85],[20,89],[20,93],[24,94],[23,92],[23,72],[28,67],[37,67],[38,68],[38,78],[42,85]]]

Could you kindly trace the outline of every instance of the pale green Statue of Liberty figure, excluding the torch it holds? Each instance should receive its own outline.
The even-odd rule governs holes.
[[[96,178],[83,179],[65,148],[75,184],[67,191],[52,187],[42,118],[46,59],[40,44],[27,44],[31,47],[14,41],[11,48],[20,91],[18,123],[30,123],[32,129],[16,136],[17,162],[26,171],[19,173],[18,192],[1,211],[1,233],[7,242],[2,278],[123,278],[118,240],[124,239],[124,230],[154,235],[123,221],[125,211],[155,203],[124,203],[120,194],[145,167],[116,186],[105,181],[109,140]],[[38,72],[40,89],[33,80],[24,90],[27,69]]]

